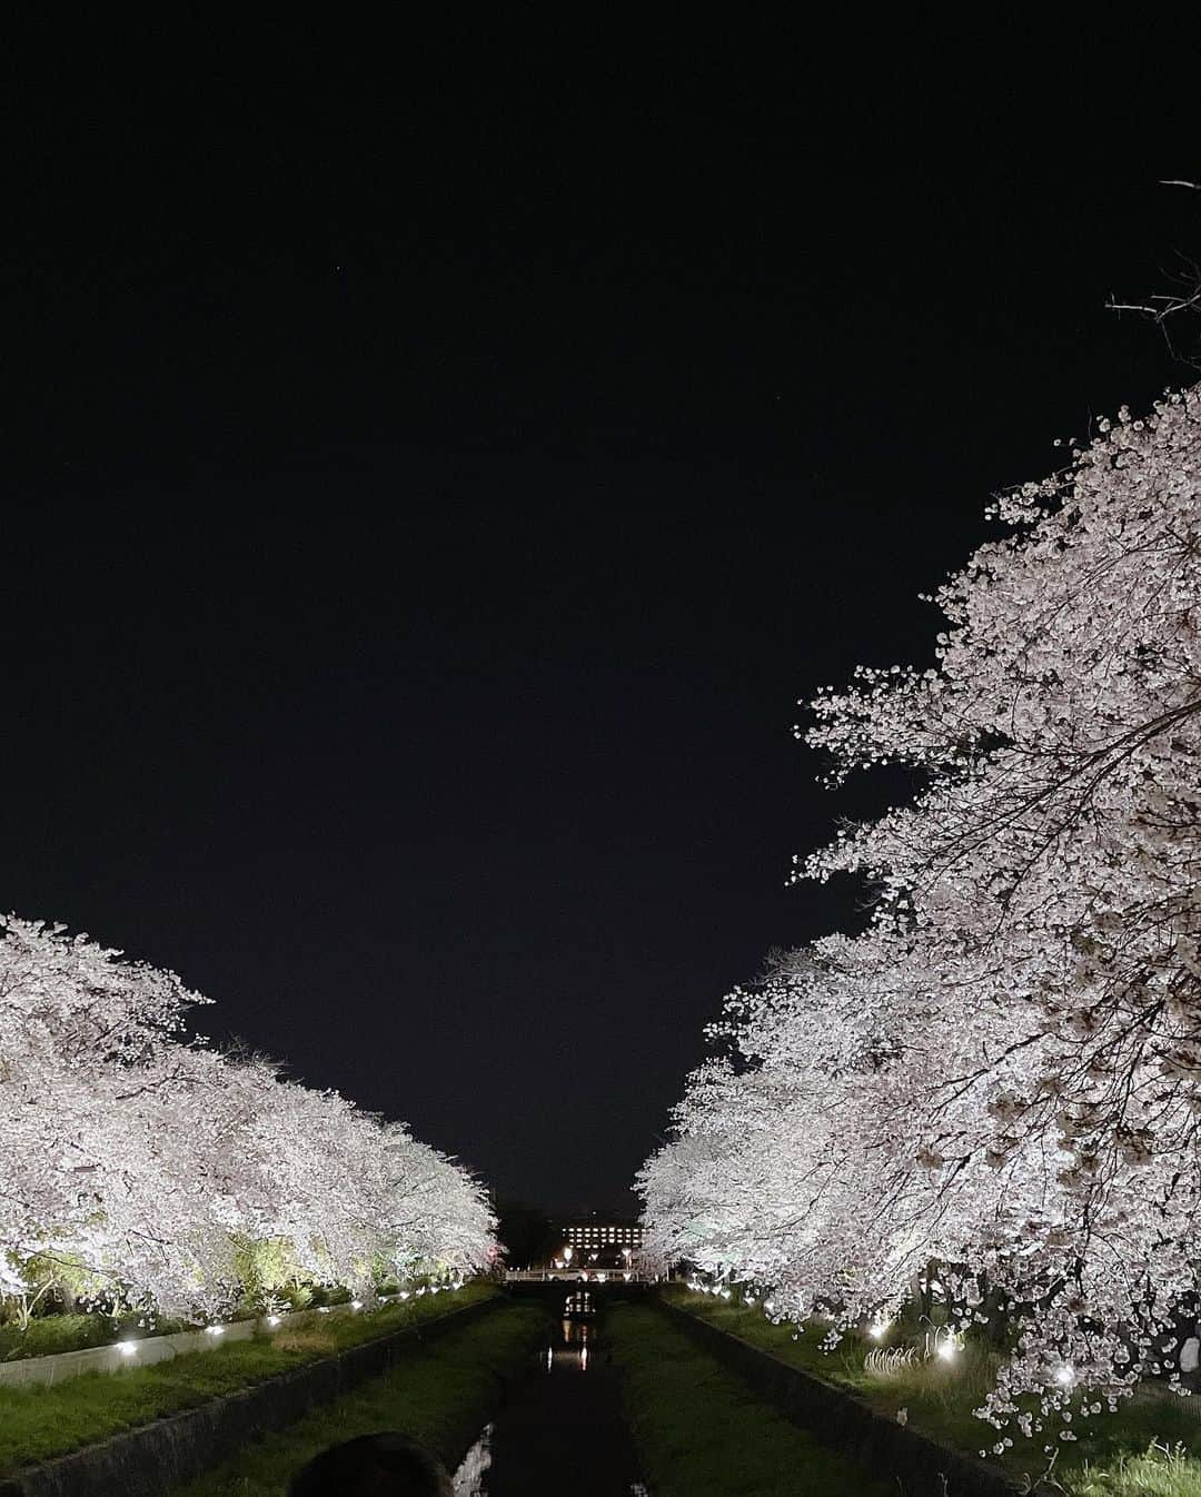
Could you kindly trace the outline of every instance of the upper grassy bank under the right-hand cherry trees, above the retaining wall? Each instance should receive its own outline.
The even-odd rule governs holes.
[[[773,1325],[755,1305],[671,1287],[668,1298],[713,1325],[762,1347],[815,1377],[846,1388],[896,1416],[907,1412],[910,1428],[970,1455],[991,1449],[1000,1436],[972,1413],[993,1386],[996,1358],[969,1344],[952,1361],[919,1362],[893,1377],[873,1377],[864,1356],[888,1340],[851,1335],[834,1352],[822,1352],[827,1326]],[[1021,1482],[1047,1467],[1044,1443],[1060,1445],[1053,1478],[1071,1497],[1201,1497],[1201,1400],[1149,1388],[1119,1406],[1072,1421],[1074,1442],[1056,1434],[1026,1440],[1017,1430],[1003,1467]],[[1059,1427],[1056,1427],[1059,1428]],[[1197,1452],[1197,1454],[1192,1454]],[[991,1460],[991,1457],[990,1457]]]

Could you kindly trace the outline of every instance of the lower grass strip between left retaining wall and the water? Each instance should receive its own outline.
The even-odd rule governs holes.
[[[508,1304],[451,1331],[373,1379],[359,1392],[249,1445],[175,1497],[280,1497],[294,1472],[319,1451],[359,1434],[398,1430],[452,1467],[494,1412],[502,1377],[547,1334],[547,1311]]]

